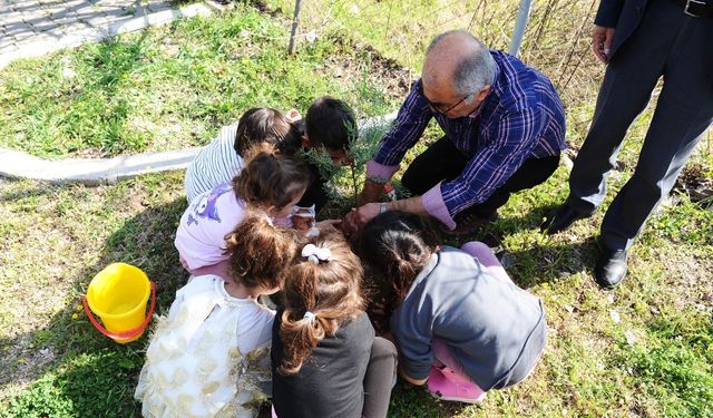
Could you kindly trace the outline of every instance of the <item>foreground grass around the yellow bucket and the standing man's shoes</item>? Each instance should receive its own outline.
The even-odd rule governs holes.
[[[685,198],[658,214],[624,284],[605,292],[590,275],[600,214],[554,237],[537,231],[566,174],[517,195],[480,236],[545,302],[549,342],[535,373],[481,406],[438,402],[400,382],[390,416],[710,416],[713,236],[673,239],[668,220],[695,230],[713,214]],[[173,249],[182,173],[97,188],[3,181],[0,202],[0,416],[137,414],[131,393],[147,339],[118,346],[72,314],[91,276],[115,261],[143,268],[162,289],[159,312],[169,307],[187,278]]]

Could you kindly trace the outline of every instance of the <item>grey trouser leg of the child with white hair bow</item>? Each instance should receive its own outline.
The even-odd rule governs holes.
[[[364,375],[364,407],[362,417],[382,418],[389,410],[391,388],[397,378],[397,348],[384,338],[374,338],[369,366]]]

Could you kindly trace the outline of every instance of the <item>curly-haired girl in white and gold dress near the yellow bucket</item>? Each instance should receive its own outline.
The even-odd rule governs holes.
[[[277,291],[295,259],[295,232],[247,215],[229,234],[232,281],[193,279],[159,317],[135,397],[145,417],[255,417],[270,396],[274,312],[256,298]]]

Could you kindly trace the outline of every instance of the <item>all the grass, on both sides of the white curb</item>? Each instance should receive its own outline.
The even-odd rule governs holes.
[[[380,4],[389,2],[373,7]],[[206,143],[254,105],[305,109],[314,96],[331,94],[360,115],[398,106],[408,71],[336,31],[287,58],[284,39],[271,39],[285,35],[280,16],[238,4],[227,16],[16,62],[0,72],[0,146],[42,156],[168,149]],[[554,66],[543,69],[558,75]],[[585,98],[596,95],[576,99],[575,87],[585,84],[563,93],[570,97],[574,149],[590,117]],[[611,192],[631,175],[649,117],[651,110],[633,127]],[[432,129],[428,139],[437,135]],[[590,271],[603,211],[556,236],[538,230],[566,195],[565,164],[514,196],[473,237],[501,249],[511,278],[543,299],[549,340],[541,362],[521,385],[492,391],[478,406],[439,402],[400,380],[390,416],[713,416],[713,202],[681,193],[711,177],[710,137],[692,163],[690,181],[649,220],[614,291],[599,290]],[[157,311],[167,311],[187,279],[173,246],[186,206],[182,181],[183,173],[100,187],[0,178],[0,417],[138,415],[133,391],[147,338],[116,344],[77,307],[91,278],[123,261],[158,283]]]

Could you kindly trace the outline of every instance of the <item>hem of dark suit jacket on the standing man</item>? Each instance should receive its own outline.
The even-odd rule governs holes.
[[[616,28],[611,56],[634,33],[649,0],[602,0],[594,25]]]

